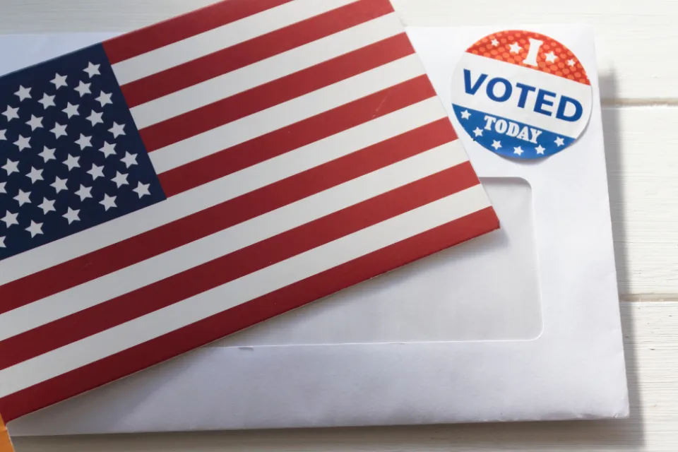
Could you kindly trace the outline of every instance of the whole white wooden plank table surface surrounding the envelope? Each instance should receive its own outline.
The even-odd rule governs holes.
[[[0,32],[131,30],[210,1],[0,0]],[[18,451],[678,450],[678,2],[393,3],[407,25],[595,26],[631,419],[21,438]]]

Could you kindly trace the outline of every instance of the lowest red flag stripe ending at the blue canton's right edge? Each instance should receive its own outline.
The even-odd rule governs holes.
[[[367,121],[413,105],[436,95],[427,76],[391,86],[362,99],[328,110],[291,126],[258,136],[218,153],[208,155],[181,167],[159,174],[166,196],[174,196],[251,167],[278,155],[314,143]],[[450,128],[444,132],[448,140],[456,139]]]

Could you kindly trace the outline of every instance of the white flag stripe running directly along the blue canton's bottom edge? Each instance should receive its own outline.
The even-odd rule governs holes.
[[[0,261],[0,285],[160,227],[329,162],[355,150],[447,117],[436,97],[336,133],[153,206]]]

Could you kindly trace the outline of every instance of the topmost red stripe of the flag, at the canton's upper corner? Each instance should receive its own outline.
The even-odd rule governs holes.
[[[225,0],[104,41],[111,64],[213,30],[292,0]]]

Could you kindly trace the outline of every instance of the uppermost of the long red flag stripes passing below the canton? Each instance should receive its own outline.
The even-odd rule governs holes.
[[[441,119],[155,230],[2,285],[0,314],[447,143],[453,136],[451,129],[450,122]]]

